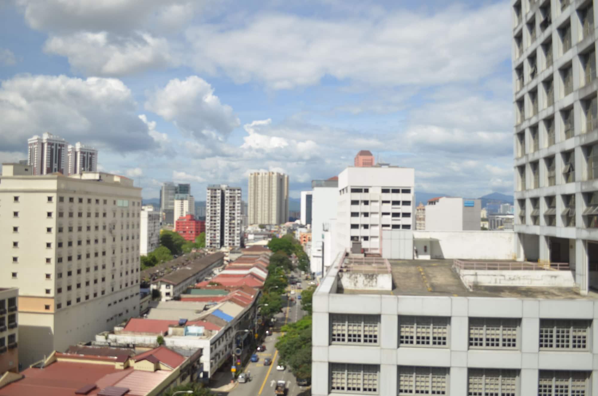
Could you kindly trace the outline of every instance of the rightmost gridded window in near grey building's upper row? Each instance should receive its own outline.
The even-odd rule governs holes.
[[[540,349],[586,351],[590,321],[540,319]]]

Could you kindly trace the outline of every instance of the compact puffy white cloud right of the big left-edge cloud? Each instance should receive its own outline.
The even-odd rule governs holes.
[[[220,102],[214,89],[196,75],[170,80],[166,87],[149,93],[145,109],[173,121],[196,138],[219,139],[240,125],[233,108]]]

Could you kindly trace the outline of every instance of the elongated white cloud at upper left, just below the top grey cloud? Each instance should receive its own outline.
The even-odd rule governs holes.
[[[143,32],[124,37],[108,32],[51,36],[44,51],[66,56],[72,68],[85,75],[130,75],[179,63],[166,39]]]

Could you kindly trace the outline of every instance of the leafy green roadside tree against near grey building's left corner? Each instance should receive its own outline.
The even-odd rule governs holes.
[[[280,361],[291,368],[298,379],[312,376],[312,317],[284,325],[280,330],[286,334],[276,342]]]

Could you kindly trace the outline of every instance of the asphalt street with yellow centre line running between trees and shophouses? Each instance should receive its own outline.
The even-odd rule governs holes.
[[[307,287],[307,282],[303,281],[303,288]],[[294,286],[292,288],[295,288]],[[297,290],[300,293],[301,290]],[[305,313],[301,309],[301,301],[297,300],[297,293],[291,294],[294,297],[294,302],[287,300],[287,307],[283,308],[283,312],[277,315],[277,320],[283,323],[296,322],[303,318]],[[297,385],[295,376],[288,369],[279,371],[276,370],[278,364],[278,352],[274,345],[280,337],[280,333],[274,333],[273,335],[266,337],[264,344],[266,345],[265,352],[256,352],[259,361],[256,363],[250,362],[246,368],[246,372],[251,373],[252,380],[246,383],[239,383],[233,391],[228,393],[228,396],[273,396],[274,388],[276,388],[276,382],[278,380],[285,380],[288,391],[287,396],[297,396],[306,390],[303,386]],[[271,365],[264,366],[264,358],[272,359]]]

